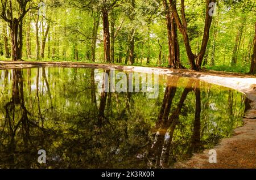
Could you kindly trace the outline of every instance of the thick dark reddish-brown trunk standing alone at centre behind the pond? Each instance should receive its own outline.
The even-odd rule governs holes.
[[[110,61],[110,32],[109,32],[109,11],[102,7],[102,22],[104,32],[104,56],[105,62],[111,63]]]

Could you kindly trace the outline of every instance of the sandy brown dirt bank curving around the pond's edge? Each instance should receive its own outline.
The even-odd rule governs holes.
[[[136,71],[155,74],[179,75],[197,78],[204,82],[236,89],[251,101],[251,109],[243,121],[245,125],[234,130],[232,138],[225,138],[213,149],[217,151],[217,164],[210,164],[209,149],[190,160],[179,162],[175,168],[256,168],[256,76],[216,71],[171,70],[168,68],[118,66],[74,62],[3,62],[0,70],[27,67],[77,67],[77,68],[115,68],[123,71]]]

